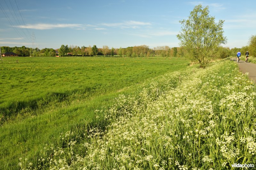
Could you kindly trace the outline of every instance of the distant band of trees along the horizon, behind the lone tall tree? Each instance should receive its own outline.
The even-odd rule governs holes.
[[[250,55],[256,56],[256,35],[252,35],[249,39],[247,46],[242,48],[228,48],[228,47],[218,47],[215,49],[214,57],[216,58],[226,58],[228,56],[235,56],[237,51],[240,50],[242,54],[249,51]],[[133,46],[127,48],[109,48],[108,46],[103,46],[102,48],[97,48],[94,46],[73,46],[73,45],[61,45],[58,49],[53,48],[28,48],[22,47],[1,47],[2,53],[14,52],[19,56],[68,56],[70,53],[73,56],[118,56],[118,57],[144,57],[144,56],[162,56],[162,57],[187,57],[190,55],[185,48],[181,47],[169,47],[169,46],[157,46],[154,48],[149,48],[147,45]],[[57,52],[57,53],[56,53]]]

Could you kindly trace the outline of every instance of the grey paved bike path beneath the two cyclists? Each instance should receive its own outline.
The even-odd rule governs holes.
[[[232,61],[236,62],[236,58],[232,58]],[[238,68],[242,73],[249,73],[249,78],[251,78],[256,84],[256,64],[254,63],[246,63],[243,60],[240,60],[238,64]]]

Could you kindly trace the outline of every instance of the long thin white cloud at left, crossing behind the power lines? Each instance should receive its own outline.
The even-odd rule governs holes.
[[[18,28],[28,28],[37,30],[47,30],[53,28],[82,28],[81,24],[27,24],[23,26],[16,26]]]

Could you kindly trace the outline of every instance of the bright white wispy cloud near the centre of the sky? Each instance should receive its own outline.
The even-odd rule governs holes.
[[[103,26],[109,27],[119,27],[119,28],[139,28],[139,26],[150,26],[152,25],[150,22],[141,22],[141,21],[124,21],[119,23],[103,23]]]

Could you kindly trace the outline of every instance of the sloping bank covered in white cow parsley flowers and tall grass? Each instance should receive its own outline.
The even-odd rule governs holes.
[[[232,169],[256,161],[256,88],[236,63],[165,74],[120,95],[105,129],[62,133],[36,165],[79,169]]]

